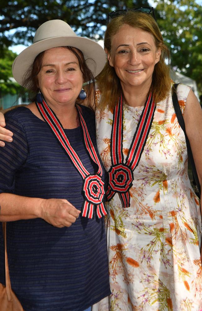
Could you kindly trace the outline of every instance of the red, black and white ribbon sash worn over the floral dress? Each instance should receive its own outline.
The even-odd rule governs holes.
[[[140,116],[133,140],[131,142],[125,164],[123,163],[123,99],[119,98],[114,108],[111,132],[112,166],[108,171],[109,186],[107,200],[110,201],[115,193],[120,193],[124,207],[130,207],[129,190],[133,182],[133,170],[137,167],[154,118],[156,105],[149,94]]]

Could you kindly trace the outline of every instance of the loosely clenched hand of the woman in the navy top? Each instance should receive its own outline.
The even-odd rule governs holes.
[[[65,199],[42,200],[39,206],[39,217],[58,228],[70,227],[79,214],[80,211]]]

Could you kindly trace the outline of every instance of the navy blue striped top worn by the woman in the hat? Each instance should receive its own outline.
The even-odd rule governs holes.
[[[96,146],[94,114],[81,107]],[[63,198],[80,210],[83,179],[49,125],[26,107],[8,112],[6,124],[14,135],[12,143],[0,148],[0,192]],[[65,133],[86,169],[96,173],[81,127]],[[8,222],[7,249],[11,287],[26,311],[81,311],[110,294],[103,218],[80,216],[68,228],[41,218]],[[0,258],[0,282],[5,284],[3,241]]]

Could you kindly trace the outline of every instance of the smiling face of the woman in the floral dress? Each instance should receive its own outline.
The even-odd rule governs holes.
[[[156,49],[154,37],[149,32],[125,24],[112,38],[108,60],[123,90],[128,87],[149,90],[154,65],[158,63],[160,55],[161,50]]]

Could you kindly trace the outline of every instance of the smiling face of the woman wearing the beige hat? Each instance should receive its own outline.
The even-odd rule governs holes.
[[[74,105],[83,84],[76,55],[62,47],[45,51],[37,78],[39,89],[50,106]]]

